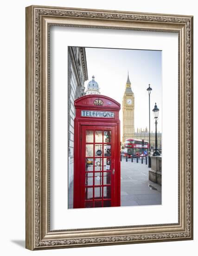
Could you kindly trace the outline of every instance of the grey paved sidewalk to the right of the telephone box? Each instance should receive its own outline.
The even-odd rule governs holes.
[[[121,206],[161,204],[161,186],[148,179],[148,165],[121,161]]]

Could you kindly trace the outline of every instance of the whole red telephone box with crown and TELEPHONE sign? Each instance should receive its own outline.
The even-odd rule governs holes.
[[[120,206],[120,104],[91,94],[74,105],[73,207]]]

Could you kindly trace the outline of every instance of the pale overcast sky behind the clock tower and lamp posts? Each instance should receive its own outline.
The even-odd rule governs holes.
[[[155,102],[159,112],[158,131],[162,130],[162,74],[161,51],[85,48],[88,68],[88,82],[95,75],[100,92],[122,105],[127,76],[134,92],[134,127],[148,128],[148,84],[151,88],[151,131],[155,131],[152,110]],[[122,109],[120,111],[122,135]]]

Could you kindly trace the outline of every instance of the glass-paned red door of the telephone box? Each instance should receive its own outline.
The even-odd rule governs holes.
[[[115,126],[81,127],[81,208],[118,206]]]

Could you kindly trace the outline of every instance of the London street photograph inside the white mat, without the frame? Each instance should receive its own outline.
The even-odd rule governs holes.
[[[68,47],[68,209],[161,204],[162,51]]]

